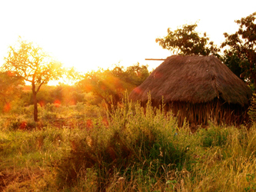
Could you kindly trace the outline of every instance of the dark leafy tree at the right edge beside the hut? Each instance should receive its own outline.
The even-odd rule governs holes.
[[[256,24],[254,23],[256,12],[248,15],[246,18],[236,20],[239,25],[238,31],[228,35],[224,33],[225,41],[221,48],[228,46],[224,54],[232,53],[239,59],[239,65],[242,68],[241,77],[245,78],[256,88]],[[256,92],[256,89],[255,89]]]

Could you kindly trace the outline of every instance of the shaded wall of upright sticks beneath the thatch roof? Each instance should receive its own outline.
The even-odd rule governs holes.
[[[166,109],[172,111],[178,118],[179,127],[182,126],[185,118],[189,124],[194,125],[207,125],[208,121],[228,125],[248,123],[248,106],[228,104],[217,98],[214,101],[201,104],[176,101],[166,104]]]

